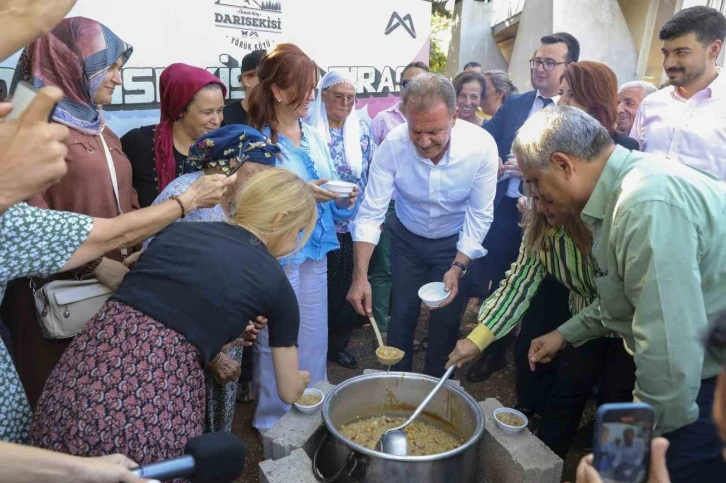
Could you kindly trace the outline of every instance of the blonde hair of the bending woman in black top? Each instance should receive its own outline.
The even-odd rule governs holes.
[[[275,223],[279,214],[282,219]],[[270,168],[245,183],[237,194],[229,222],[250,231],[268,248],[304,226],[294,253],[310,238],[317,219],[315,196],[308,184],[291,171]]]

